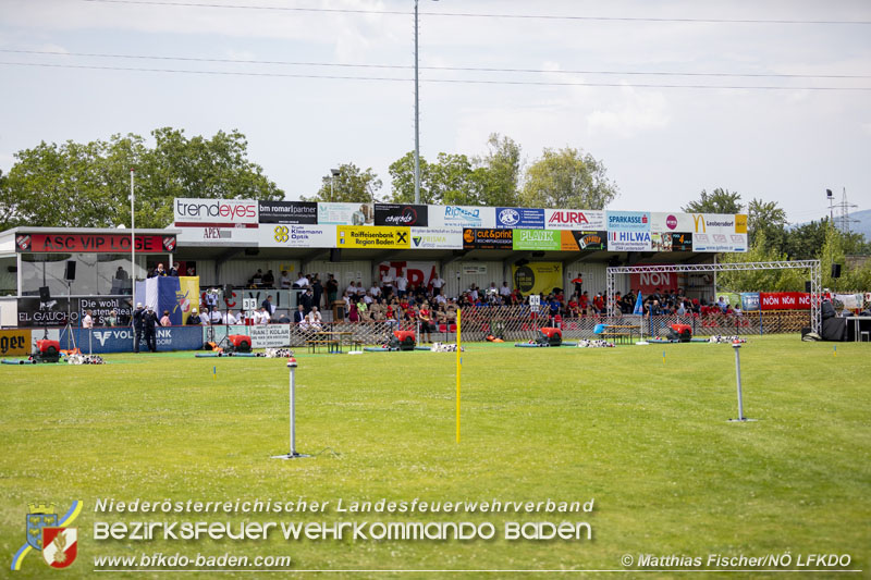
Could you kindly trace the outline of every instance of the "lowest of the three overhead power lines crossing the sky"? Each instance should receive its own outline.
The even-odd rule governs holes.
[[[3,62],[0,65],[10,66],[38,66],[48,69],[78,69],[91,71],[126,71],[142,73],[173,73],[219,76],[256,76],[275,78],[324,78],[334,81],[383,81],[410,83],[413,78],[384,77],[384,76],[346,76],[346,75],[315,75],[295,73],[256,73],[246,71],[195,71],[181,69],[147,69],[134,66],[97,66],[85,64],[57,64],[36,62]],[[763,85],[673,85],[660,83],[589,83],[589,82],[547,82],[547,81],[488,81],[462,78],[430,78],[424,83],[468,84],[468,85],[527,85],[527,86],[578,86],[578,87],[636,87],[636,88],[691,88],[691,89],[739,89],[739,90],[849,90],[866,91],[871,87],[830,87],[830,86],[763,86]]]

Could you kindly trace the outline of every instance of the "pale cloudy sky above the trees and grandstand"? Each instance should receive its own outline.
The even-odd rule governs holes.
[[[40,140],[147,135],[159,126],[181,127],[188,136],[237,128],[248,138],[250,159],[263,166],[289,199],[314,194],[321,176],[343,162],[372,168],[384,182],[381,195],[389,192],[388,166],[414,147],[409,69],[177,59],[410,66],[412,0],[208,2],[366,13],[167,4],[176,1],[0,2],[0,62],[5,63],[0,64],[4,87],[0,169],[9,171],[15,151]],[[420,137],[425,158],[440,151],[481,155],[488,135],[500,133],[523,147],[527,162],[533,162],[544,147],[571,146],[592,153],[619,186],[621,195],[611,209],[673,211],[698,198],[702,188],[715,187],[737,190],[745,201],[753,197],[775,200],[794,222],[827,214],[825,188],[834,189],[838,199],[846,188],[850,202],[859,209],[871,208],[871,90],[831,90],[871,87],[870,24],[679,21],[868,23],[869,2],[421,0],[420,10],[421,66],[537,71],[424,69]],[[597,73],[602,71],[617,74]],[[814,76],[629,74],[655,72]],[[619,86],[582,85],[590,83]],[[638,84],[790,88],[631,86]]]

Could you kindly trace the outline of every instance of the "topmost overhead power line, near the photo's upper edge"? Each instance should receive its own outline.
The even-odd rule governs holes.
[[[222,8],[232,10],[270,10],[282,12],[324,12],[345,14],[397,14],[409,16],[412,12],[402,10],[359,10],[339,8],[293,8],[293,7],[265,7],[256,4],[213,4],[206,2],[168,2],[161,0],[82,0],[83,2],[105,4],[144,4],[157,7],[181,8]],[[449,16],[469,18],[514,18],[514,20],[564,20],[564,21],[593,21],[593,22],[680,22],[702,24],[871,24],[871,21],[827,21],[827,20],[786,20],[786,18],[664,18],[642,16],[569,16],[559,14],[499,14],[499,13],[471,13],[471,12],[420,12],[426,16]]]

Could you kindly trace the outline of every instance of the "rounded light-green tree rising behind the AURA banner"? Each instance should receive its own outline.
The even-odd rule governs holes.
[[[601,161],[566,147],[544,149],[526,172],[520,199],[532,208],[603,209],[617,192]]]

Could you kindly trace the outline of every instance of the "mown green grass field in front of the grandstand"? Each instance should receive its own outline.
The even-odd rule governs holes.
[[[797,568],[801,555],[849,554],[849,568],[863,572],[848,577],[870,576],[871,348],[839,344],[835,351],[831,343],[766,336],[750,337],[740,355],[745,414],[756,422],[727,422],[737,416],[737,402],[735,356],[726,345],[520,349],[470,344],[463,356],[457,444],[454,354],[300,354],[297,449],[329,449],[293,461],[270,459],[289,447],[289,373],[282,359],[196,359],[179,353],[108,356],[109,365],[95,367],[2,366],[4,569],[24,542],[28,503],[54,502],[64,511],[81,499],[83,511],[73,525],[79,530],[76,562],[63,571],[49,570],[40,553],[32,552],[16,577],[85,577],[95,570],[95,556],[155,553],[291,556],[292,564],[282,569],[369,570],[331,576],[355,578],[433,578],[449,573],[424,570],[459,569],[618,570],[626,568],[624,555],[637,564],[643,554],[698,556],[704,568],[709,554],[789,553],[787,568]],[[330,509],[316,515],[95,513],[99,498],[299,497],[330,502]],[[340,499],[382,497],[594,498],[594,510],[335,510]],[[97,521],[143,520],[471,521],[493,523],[496,538],[93,538]],[[589,522],[592,540],[502,538],[505,521],[563,520]],[[159,576],[176,575],[182,576]],[[253,576],[260,575],[222,575]],[[736,576],[745,572],[729,575]],[[755,577],[769,576],[776,575]]]

